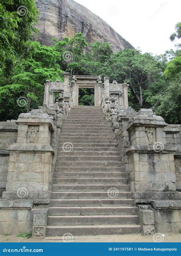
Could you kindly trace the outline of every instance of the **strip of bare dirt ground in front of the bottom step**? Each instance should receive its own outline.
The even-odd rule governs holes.
[[[181,242],[181,234],[164,234],[162,242]],[[31,243],[31,242],[43,242],[43,243],[62,243],[62,236],[53,236],[46,237],[45,239],[34,239],[34,238],[21,238],[16,235],[0,235],[0,242],[23,242],[23,243]],[[74,236],[74,243],[78,242],[151,242],[153,241],[153,236],[142,236],[142,235],[99,235],[99,236]]]

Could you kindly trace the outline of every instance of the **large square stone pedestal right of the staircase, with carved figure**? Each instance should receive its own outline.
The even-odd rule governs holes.
[[[131,146],[127,149],[131,191],[175,191],[174,150],[166,145],[162,117],[141,109],[129,123]]]

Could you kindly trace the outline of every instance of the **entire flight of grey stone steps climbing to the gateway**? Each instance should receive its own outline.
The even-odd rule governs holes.
[[[59,141],[47,236],[141,232],[115,142],[101,107],[71,108]]]

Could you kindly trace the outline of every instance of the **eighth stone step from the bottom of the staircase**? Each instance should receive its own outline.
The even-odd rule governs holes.
[[[54,172],[53,178],[126,178],[126,173],[124,172]]]

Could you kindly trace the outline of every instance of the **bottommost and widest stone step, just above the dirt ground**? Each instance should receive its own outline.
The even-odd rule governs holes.
[[[47,226],[47,236],[63,236],[71,233],[73,236],[79,235],[113,235],[141,233],[139,225],[79,225],[79,226]]]

